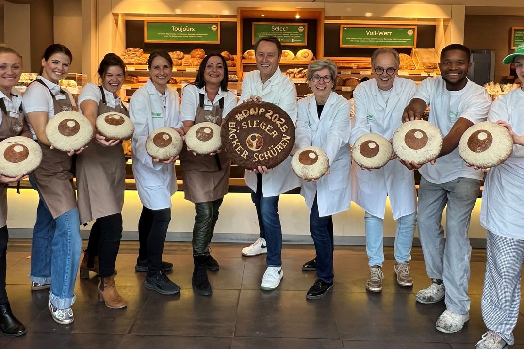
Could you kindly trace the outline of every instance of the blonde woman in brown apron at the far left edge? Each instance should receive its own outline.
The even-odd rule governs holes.
[[[22,97],[14,86],[22,73],[22,57],[10,47],[0,45],[0,141],[8,137],[24,136],[31,138],[31,132],[24,122]],[[20,174],[16,178],[0,175],[0,332],[8,337],[18,337],[26,333],[24,325],[11,311],[5,289],[6,252],[9,232],[7,231],[7,186],[27,178]]]

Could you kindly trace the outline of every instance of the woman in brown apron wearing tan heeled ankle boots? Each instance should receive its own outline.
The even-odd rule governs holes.
[[[106,112],[129,115],[117,95],[126,73],[122,59],[114,53],[107,53],[100,62],[98,73],[102,86],[89,83],[78,97],[80,111],[93,123],[93,127],[97,116]],[[96,134],[88,149],[78,155],[75,175],[80,223],[96,219],[80,263],[80,277],[89,278],[90,271],[99,273],[99,300],[103,300],[109,308],[124,308],[127,302],[118,294],[114,280],[116,255],[122,239],[122,207],[126,187],[122,141],[106,140],[101,134]],[[95,256],[99,256],[98,270]]]

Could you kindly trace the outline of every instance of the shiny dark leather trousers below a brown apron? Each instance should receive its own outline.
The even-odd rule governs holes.
[[[213,238],[219,208],[224,198],[215,201],[195,202],[195,224],[193,226],[193,256],[207,255]]]

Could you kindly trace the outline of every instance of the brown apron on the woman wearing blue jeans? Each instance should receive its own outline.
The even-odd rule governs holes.
[[[51,94],[54,115],[61,111],[73,110],[71,100],[65,91],[60,89],[60,94],[57,96],[65,95],[65,98],[57,99],[43,81],[36,79],[31,84],[35,82],[45,86]],[[41,142],[39,144],[42,148],[42,162],[32,175],[37,182],[38,191],[43,201],[51,212],[51,216],[57,218],[77,207],[77,198],[74,195],[73,187],[73,160],[67,152],[50,149]]]

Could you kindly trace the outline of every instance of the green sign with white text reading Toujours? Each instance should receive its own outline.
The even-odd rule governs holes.
[[[144,21],[144,42],[220,43],[220,22]]]

